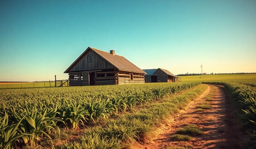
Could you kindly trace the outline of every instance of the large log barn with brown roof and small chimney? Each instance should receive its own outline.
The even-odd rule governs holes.
[[[70,86],[144,83],[145,72],[125,57],[88,47],[64,73]]]

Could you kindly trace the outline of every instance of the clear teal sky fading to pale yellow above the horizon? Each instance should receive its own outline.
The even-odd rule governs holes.
[[[0,81],[68,79],[88,46],[140,69],[256,72],[256,0],[0,0]]]

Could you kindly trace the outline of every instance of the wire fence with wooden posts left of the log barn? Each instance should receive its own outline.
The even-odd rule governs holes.
[[[68,86],[68,80],[56,81],[56,87],[59,87],[59,86]],[[0,84],[0,89],[20,89],[20,88],[38,88],[38,87],[55,87],[55,81]]]

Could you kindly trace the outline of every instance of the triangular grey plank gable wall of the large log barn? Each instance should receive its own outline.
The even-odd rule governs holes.
[[[108,63],[96,52],[88,50],[83,57],[70,69],[71,72],[84,71],[84,70],[96,70],[96,69],[111,69],[113,65]]]

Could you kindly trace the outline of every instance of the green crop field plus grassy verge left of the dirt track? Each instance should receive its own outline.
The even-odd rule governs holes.
[[[92,146],[120,148],[125,142],[145,135],[154,123],[169,115],[169,110],[173,113],[177,112],[186,102],[203,92],[204,86],[194,88],[198,85],[200,83],[188,82],[3,89],[0,92],[0,117],[2,117],[0,119],[0,145],[4,148],[38,145],[49,147],[54,144],[46,142],[51,142],[52,138],[58,138],[60,132],[63,133],[60,129],[77,131],[88,127],[86,129],[88,132],[84,131],[84,133],[90,135],[82,135],[72,144],[62,143],[61,148],[81,147],[86,142],[88,148]],[[191,96],[183,95],[177,100],[169,101],[171,103],[168,104],[159,103],[167,95],[174,95],[192,88],[194,88],[193,92],[189,92]],[[148,108],[142,106],[146,103],[148,103]],[[145,111],[139,110],[137,114],[133,113],[140,105],[145,108]],[[124,116],[123,114],[127,112],[132,112],[132,114]],[[112,120],[111,117],[118,118]],[[143,123],[144,121],[147,123]],[[121,125],[125,122],[127,123]],[[136,126],[131,128],[131,123]],[[102,140],[102,137],[105,139]],[[92,139],[98,139],[98,141],[88,142]]]

